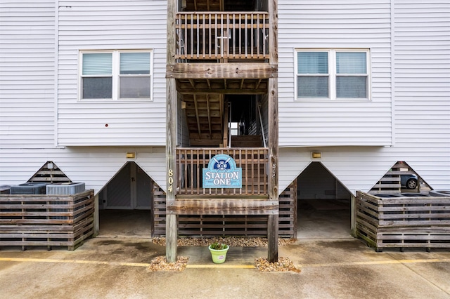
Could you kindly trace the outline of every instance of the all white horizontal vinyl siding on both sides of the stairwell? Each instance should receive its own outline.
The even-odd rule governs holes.
[[[162,0],[0,1],[0,185],[54,161],[98,192],[136,152],[165,188],[166,13]],[[449,15],[448,1],[278,0],[280,192],[311,151],[352,192],[397,161],[433,189],[450,188]],[[295,48],[370,49],[372,100],[296,101]],[[79,51],[110,49],[153,50],[152,102],[77,102]],[[93,146],[54,147],[57,108],[60,144]],[[140,142],[161,146],[127,145]]]

